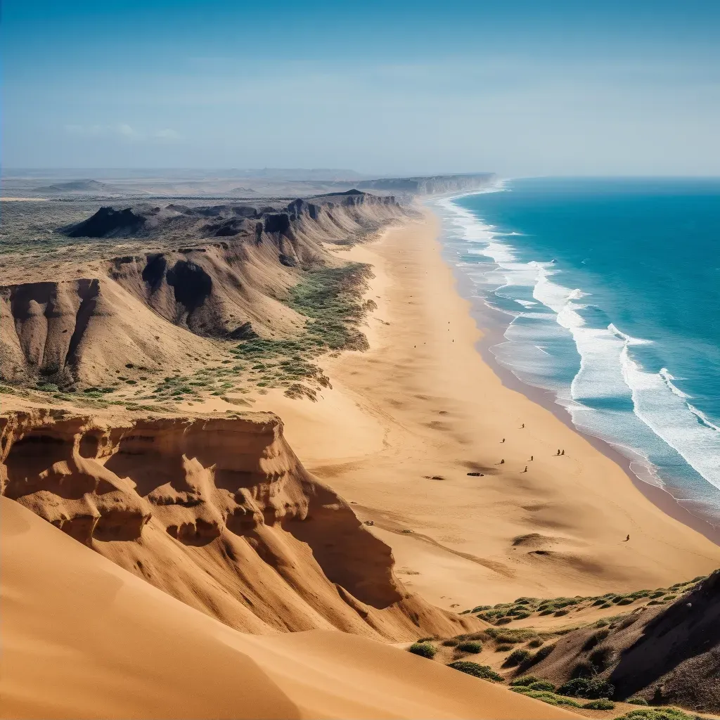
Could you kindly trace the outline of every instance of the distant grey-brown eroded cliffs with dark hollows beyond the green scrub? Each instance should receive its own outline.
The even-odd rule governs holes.
[[[174,369],[205,356],[202,338],[292,336],[304,319],[282,302],[288,289],[339,264],[323,243],[401,217],[394,198],[357,191],[258,207],[103,207],[63,232],[160,249],[112,258],[98,276],[0,286],[0,379],[102,386],[128,363]]]

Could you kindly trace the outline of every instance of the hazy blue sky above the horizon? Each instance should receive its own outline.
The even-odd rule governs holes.
[[[7,168],[720,175],[716,0],[3,0]]]

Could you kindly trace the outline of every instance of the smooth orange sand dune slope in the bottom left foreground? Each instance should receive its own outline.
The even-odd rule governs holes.
[[[356,636],[246,636],[0,498],[6,718],[572,714]]]

